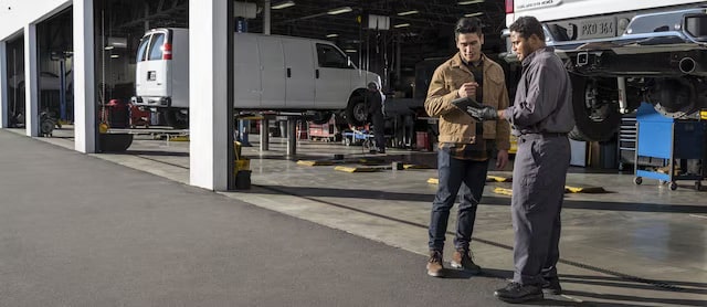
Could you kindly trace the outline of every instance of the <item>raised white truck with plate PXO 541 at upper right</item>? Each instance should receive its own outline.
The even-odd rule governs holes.
[[[506,0],[506,27],[523,15],[570,72],[574,139],[612,138],[641,102],[674,118],[707,107],[707,1]]]

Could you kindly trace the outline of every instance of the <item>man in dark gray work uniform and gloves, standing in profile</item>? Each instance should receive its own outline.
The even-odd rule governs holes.
[[[523,64],[514,105],[469,107],[479,120],[506,119],[518,136],[511,215],[515,232],[513,282],[494,295],[508,303],[560,294],[560,209],[570,163],[567,134],[574,127],[569,74],[553,47],[545,45],[540,22],[521,17],[510,25],[514,52]]]

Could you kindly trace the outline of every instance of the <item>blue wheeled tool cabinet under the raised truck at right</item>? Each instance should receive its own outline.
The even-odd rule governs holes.
[[[663,171],[635,163],[634,182],[641,184],[643,178],[657,179],[668,183],[671,190],[677,189],[677,180],[695,180],[697,190],[701,187],[705,173],[705,127],[700,120],[685,120],[665,117],[652,105],[642,104],[636,113],[637,145],[636,161],[640,157],[664,159]],[[703,163],[699,173],[677,172],[676,159],[698,159]]]

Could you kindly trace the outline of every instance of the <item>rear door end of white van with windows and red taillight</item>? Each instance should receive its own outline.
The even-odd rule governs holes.
[[[136,92],[143,97],[171,97],[171,38],[160,29],[143,38],[138,47]]]

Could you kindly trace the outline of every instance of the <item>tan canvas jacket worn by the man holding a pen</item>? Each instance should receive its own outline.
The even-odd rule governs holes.
[[[508,107],[508,91],[504,71],[498,63],[484,59],[484,105],[505,109]],[[476,142],[476,120],[465,112],[454,107],[452,100],[458,98],[457,91],[462,84],[473,82],[474,74],[466,67],[462,57],[456,53],[452,59],[442,63],[430,82],[424,108],[432,117],[440,117],[440,137],[442,142]],[[484,123],[484,139],[495,139],[499,150],[508,150],[510,126],[506,120],[490,120]]]

